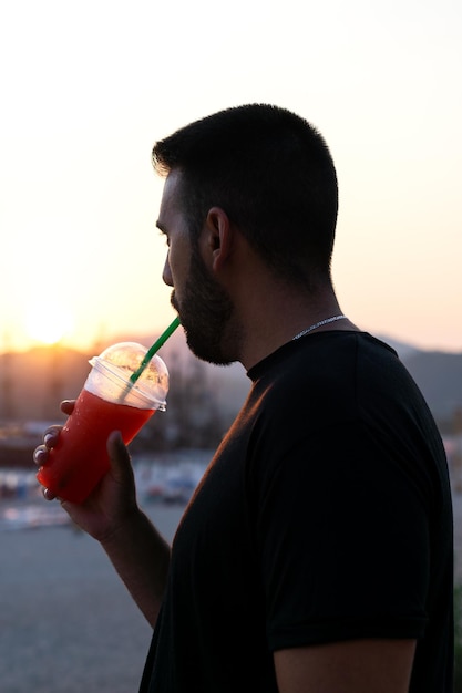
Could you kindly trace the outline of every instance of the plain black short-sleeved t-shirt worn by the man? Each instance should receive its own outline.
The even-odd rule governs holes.
[[[452,692],[441,437],[396,353],[329,331],[254,366],[178,526],[143,693],[273,693],[273,652],[417,638],[411,691]]]

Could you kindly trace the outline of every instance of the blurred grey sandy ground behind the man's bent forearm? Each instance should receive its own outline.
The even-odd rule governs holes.
[[[183,508],[146,510],[171,539]],[[462,494],[454,528],[462,579]],[[1,693],[136,693],[151,631],[99,545],[54,526],[1,531],[0,546]]]

